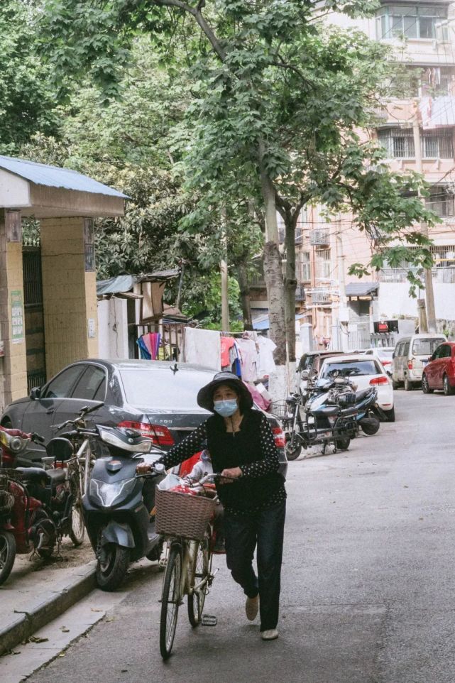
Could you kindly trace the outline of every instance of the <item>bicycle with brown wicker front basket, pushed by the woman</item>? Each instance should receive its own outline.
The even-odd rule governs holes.
[[[219,478],[207,474],[196,488]],[[205,491],[205,489],[204,489]],[[205,491],[207,496],[207,491]],[[177,628],[177,618],[187,596],[188,619],[192,628],[202,622],[204,603],[216,572],[212,572],[214,509],[218,498],[191,496],[172,491],[156,491],[155,528],[166,537],[165,574],[161,595],[160,652],[170,657]]]

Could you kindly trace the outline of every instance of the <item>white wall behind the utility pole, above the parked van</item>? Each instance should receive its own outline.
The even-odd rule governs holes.
[[[420,295],[424,297],[423,290]],[[434,283],[434,305],[437,318],[455,320],[455,284]],[[380,283],[379,314],[386,318],[418,317],[417,299],[410,297],[407,283]]]

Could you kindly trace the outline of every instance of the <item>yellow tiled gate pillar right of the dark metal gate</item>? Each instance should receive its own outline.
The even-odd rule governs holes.
[[[41,220],[41,262],[48,378],[98,356],[97,280],[92,221]]]

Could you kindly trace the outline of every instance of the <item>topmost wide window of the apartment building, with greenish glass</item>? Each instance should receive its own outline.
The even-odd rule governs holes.
[[[379,40],[434,40],[438,25],[446,18],[445,6],[385,5],[376,15],[376,34]],[[447,26],[441,27],[438,38],[447,40]]]

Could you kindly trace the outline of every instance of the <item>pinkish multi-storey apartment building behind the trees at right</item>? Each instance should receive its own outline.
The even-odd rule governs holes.
[[[430,231],[437,326],[455,332],[455,3],[383,1],[375,18],[331,21],[392,45],[403,65],[380,125],[368,134],[384,146],[390,168],[417,170],[429,182],[425,201],[442,219]],[[327,222],[322,207],[310,207],[297,245],[297,278],[306,295],[301,321],[312,324],[317,346],[388,345],[393,334],[378,332],[378,323],[405,318],[412,327],[417,320],[406,263],[361,280],[349,275],[352,263],[368,263],[375,241],[346,214]]]

